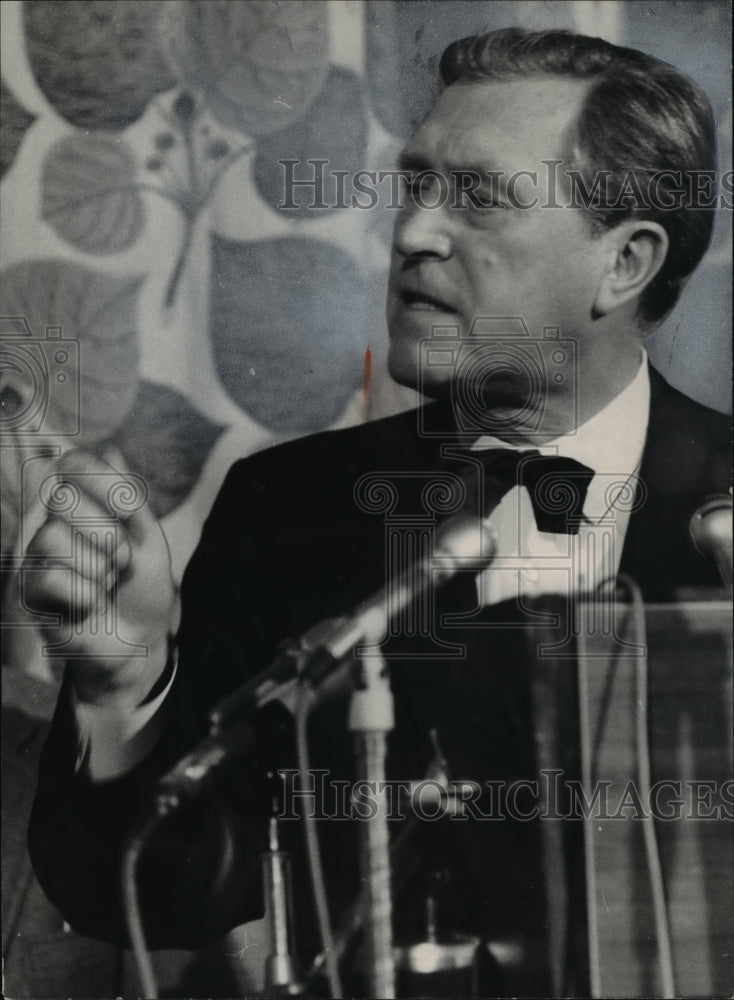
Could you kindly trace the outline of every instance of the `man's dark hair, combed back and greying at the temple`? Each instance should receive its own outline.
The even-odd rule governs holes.
[[[660,223],[668,233],[665,262],[640,301],[644,320],[660,320],[675,305],[711,239],[713,210],[697,204],[702,192],[697,194],[695,183],[691,188],[692,175],[716,169],[709,100],[698,84],[668,63],[569,31],[507,28],[464,38],[449,45],[440,64],[445,86],[546,74],[590,81],[568,158],[587,191],[595,176],[611,172],[603,203],[588,206],[595,226],[609,229],[634,215]],[[661,198],[672,199],[678,192],[676,208],[666,210],[660,199],[650,204],[647,197],[644,205],[634,199],[626,208],[615,205],[625,178],[634,176],[644,192],[650,178],[662,171],[680,172],[683,178],[683,196],[674,177],[660,176],[657,182]],[[715,200],[710,193],[707,197]]]

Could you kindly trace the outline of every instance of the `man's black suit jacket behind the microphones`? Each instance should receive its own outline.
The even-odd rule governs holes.
[[[632,515],[622,558],[622,568],[648,599],[669,599],[681,585],[716,582],[689,541],[688,522],[707,496],[728,490],[728,423],[652,373],[641,474],[645,495]],[[68,700],[60,699],[30,845],[42,884],[72,926],[124,938],[118,868],[131,817],[163,770],[205,734],[207,709],[265,668],[282,639],[347,612],[385,582],[384,516],[355,502],[355,485],[366,473],[383,472],[399,483],[403,506],[396,512],[415,514],[426,482],[421,474],[441,465],[440,445],[416,433],[412,411],[290,442],[233,466],[185,575],[179,672],[170,722],[155,752],[119,780],[90,785],[74,774],[75,730]],[[393,670],[393,776],[424,773],[431,726],[440,729],[453,777],[483,781],[534,773],[523,629],[475,632],[470,645],[460,669],[418,660],[400,661]],[[349,776],[343,712],[342,705],[320,708],[312,727],[314,766],[328,767],[334,777]],[[256,725],[261,761],[248,774],[243,766],[226,790],[209,789],[143,864],[146,926],[155,946],[197,946],[262,913],[259,845],[267,789],[258,775],[265,767],[293,766],[293,757],[277,708],[262,713]],[[488,835],[489,826],[494,846],[473,843]],[[521,871],[521,864],[507,864],[506,852],[522,852],[530,833],[503,824],[485,827],[461,834],[466,851],[458,853],[466,862],[457,878],[481,887],[476,912],[486,929],[493,920],[513,919],[513,913],[520,922],[523,914],[539,913],[542,879],[537,865]],[[354,857],[344,860],[354,849],[355,832],[343,823],[324,823],[320,832],[327,864],[334,863],[338,908],[358,888]],[[289,829],[286,836],[293,834],[298,852],[296,833]],[[227,841],[231,850],[224,849]],[[299,894],[304,881],[298,876]],[[302,891],[306,896],[305,885]]]

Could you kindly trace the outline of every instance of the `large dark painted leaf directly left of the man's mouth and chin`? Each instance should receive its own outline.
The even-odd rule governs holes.
[[[304,237],[215,234],[211,287],[217,372],[234,401],[273,431],[332,424],[362,382],[367,310],[356,262]]]

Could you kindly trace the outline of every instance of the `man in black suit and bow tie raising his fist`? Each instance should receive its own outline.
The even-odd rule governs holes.
[[[440,514],[489,518],[497,554],[476,581],[457,574],[425,634],[389,637],[400,779],[425,773],[430,731],[452,776],[533,774],[525,626],[542,614],[537,600],[568,607],[620,568],[651,598],[712,579],[688,522],[728,488],[726,422],[649,372],[643,347],[708,245],[711,210],[694,188],[669,207],[682,177],[715,162],[706,98],[672,67],[564,33],[457,42],[441,72],[442,95],[402,156],[410,184],[388,293],[390,371],[434,402],[236,465],[187,570],[180,630],[145,510],[121,522],[120,547],[86,587],[81,617],[114,595],[118,628],[149,655],[106,658],[91,629],[78,639],[41,768],[32,855],[83,933],[124,937],[117,885],[131,817],[205,734],[207,711],[280,641],[389,582],[390,545],[430,548]],[[99,514],[94,468],[80,455],[59,464]],[[33,555],[58,559],[66,527],[41,528]],[[600,531],[606,548],[592,541]],[[68,607],[59,578],[34,574],[29,600]],[[250,780],[207,789],[144,858],[154,946],[195,946],[261,914],[262,773],[292,765],[283,715],[255,720]],[[348,781],[342,716],[318,709],[313,758]],[[458,922],[490,935],[509,922],[537,940],[537,831],[459,826],[447,904],[465,906]],[[350,829],[322,824],[335,911],[358,889]],[[543,993],[541,966],[529,959],[515,991]]]

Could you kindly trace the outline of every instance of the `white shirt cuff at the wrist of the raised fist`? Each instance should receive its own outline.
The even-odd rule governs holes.
[[[163,690],[132,711],[80,701],[72,686],[72,709],[79,732],[77,773],[84,770],[92,781],[110,781],[147,757],[163,731],[166,699],[177,668],[178,654],[171,648]]]

